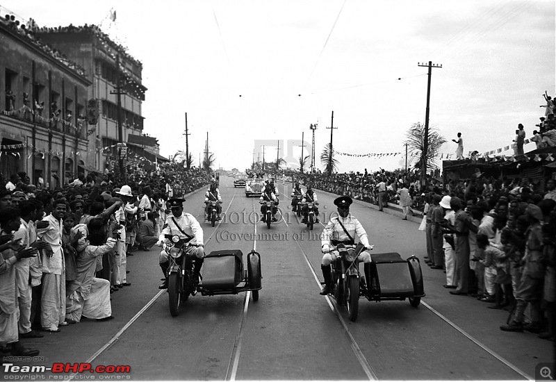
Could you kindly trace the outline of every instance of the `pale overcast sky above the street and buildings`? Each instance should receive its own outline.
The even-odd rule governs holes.
[[[527,138],[555,95],[555,1],[20,1],[1,6],[40,26],[100,24],[143,64],[145,133],[161,154],[195,165],[208,132],[216,165],[245,169],[261,140],[330,140],[343,153],[400,153],[412,124],[430,125],[464,153],[503,148],[519,123]],[[111,35],[113,35],[111,33]],[[291,144],[293,158],[301,154]],[[525,145],[525,151],[534,144]],[[307,148],[304,149],[307,153]],[[276,147],[265,149],[275,159]],[[506,151],[511,155],[513,151]],[[402,156],[336,156],[340,171],[404,167]],[[322,167],[321,167],[322,168]]]

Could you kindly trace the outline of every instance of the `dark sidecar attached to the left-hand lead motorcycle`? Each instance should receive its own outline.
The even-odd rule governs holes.
[[[247,269],[243,267],[243,252],[239,249],[212,251],[204,257],[201,283],[197,288],[202,296],[252,292],[253,301],[259,300],[261,290],[261,255],[247,254]]]

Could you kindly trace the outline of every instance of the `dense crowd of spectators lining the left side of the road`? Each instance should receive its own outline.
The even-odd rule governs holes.
[[[55,190],[30,184],[24,172],[0,174],[0,352],[36,356],[19,339],[113,319],[111,294],[131,288],[127,258],[158,240],[165,201],[210,181],[204,169],[178,163],[125,182],[80,173]]]

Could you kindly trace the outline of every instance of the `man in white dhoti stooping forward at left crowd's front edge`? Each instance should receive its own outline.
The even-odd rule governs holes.
[[[110,281],[95,277],[97,257],[113,249],[116,239],[107,238],[104,219],[95,217],[88,224],[88,240],[79,239],[76,279],[67,285],[66,318],[80,322],[81,317],[106,321],[113,319]],[[73,231],[72,231],[73,232]]]

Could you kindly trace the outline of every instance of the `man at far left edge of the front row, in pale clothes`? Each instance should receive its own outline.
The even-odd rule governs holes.
[[[34,248],[22,248],[21,239],[12,240],[13,232],[19,229],[19,210],[4,208],[0,213],[0,343],[7,343],[13,356],[38,356],[39,351],[26,349],[19,343],[17,321],[17,281],[15,264],[22,259],[37,256]]]

